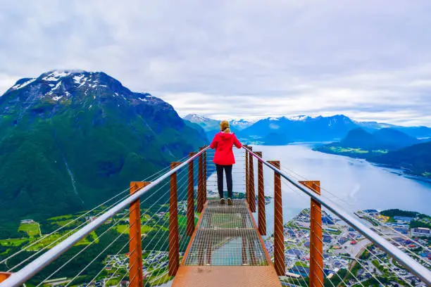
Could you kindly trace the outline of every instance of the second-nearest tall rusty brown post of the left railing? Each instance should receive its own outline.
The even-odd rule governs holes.
[[[170,162],[170,169],[180,165],[181,162]],[[169,276],[177,274],[180,265],[180,242],[178,240],[178,186],[177,172],[170,175],[170,202],[169,202]]]

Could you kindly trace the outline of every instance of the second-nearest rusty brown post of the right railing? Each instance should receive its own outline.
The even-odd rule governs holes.
[[[280,169],[279,160],[269,160],[268,163]],[[274,268],[278,276],[286,274],[284,239],[281,176],[274,171]]]

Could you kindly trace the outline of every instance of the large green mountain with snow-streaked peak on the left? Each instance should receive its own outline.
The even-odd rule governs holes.
[[[0,97],[0,218],[89,208],[207,139],[104,72],[54,70]]]

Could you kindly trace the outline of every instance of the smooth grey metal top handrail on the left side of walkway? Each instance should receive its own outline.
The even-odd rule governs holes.
[[[53,248],[47,250],[44,254],[37,257],[37,259],[27,264],[18,272],[11,274],[11,276],[8,279],[6,279],[6,281],[0,283],[0,286],[1,287],[19,286],[20,284],[24,283],[25,281],[30,279],[33,275],[37,274],[40,270],[46,267],[46,265],[48,265],[50,262],[56,260],[58,256],[65,253],[66,250],[68,250],[77,242],[81,241],[83,238],[88,236],[92,231],[94,231],[94,229],[99,227],[101,224],[104,224],[104,222],[106,222],[108,219],[116,215],[121,210],[124,210],[125,208],[127,208],[128,205],[135,202],[135,200],[140,198],[144,193],[146,193],[147,191],[150,191],[151,189],[154,189],[154,187],[158,186],[158,184],[160,184],[163,180],[168,179],[168,177],[170,177],[171,174],[174,174],[178,170],[181,170],[183,167],[187,166],[187,163],[189,161],[198,158],[199,155],[201,155],[201,153],[204,153],[207,149],[208,147],[204,148],[203,150],[196,153],[193,157],[188,158],[187,160],[185,160],[185,162],[182,162],[182,164],[178,165],[177,167],[173,168],[168,172],[165,172],[165,174],[155,179],[148,186],[145,186],[142,189],[139,189],[132,196],[128,196],[123,201],[115,205],[113,208],[110,208],[109,210],[104,212],[103,215],[97,217],[96,219],[94,219],[94,221],[86,224],[85,227],[82,227],[82,229],[75,232],[75,234],[68,236],[68,238],[65,238],[64,241],[61,241],[61,243],[58,243]]]

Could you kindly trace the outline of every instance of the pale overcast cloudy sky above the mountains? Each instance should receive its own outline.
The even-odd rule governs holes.
[[[431,1],[1,1],[0,94],[104,71],[180,115],[431,126]]]

